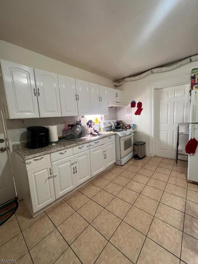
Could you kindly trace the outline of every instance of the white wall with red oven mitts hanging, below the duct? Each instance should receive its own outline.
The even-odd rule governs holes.
[[[134,135],[134,142],[145,141],[146,142],[146,155],[149,155],[149,133],[150,133],[150,116],[149,116],[149,82],[153,82],[157,79],[164,79],[169,76],[189,73],[189,79],[191,70],[198,68],[198,62],[189,63],[176,70],[172,70],[166,73],[155,73],[149,75],[143,79],[124,83],[123,87],[124,103],[130,104],[132,100],[142,102],[142,112],[140,116],[136,116],[134,113],[137,109],[132,108],[132,123],[136,124],[137,132]]]

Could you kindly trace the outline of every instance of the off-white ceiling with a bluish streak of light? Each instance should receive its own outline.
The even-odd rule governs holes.
[[[198,53],[197,0],[2,0],[0,39],[118,80]]]

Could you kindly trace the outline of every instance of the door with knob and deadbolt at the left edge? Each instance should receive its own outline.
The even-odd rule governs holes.
[[[0,109],[0,140],[1,139],[4,140],[4,142],[0,142],[0,205],[16,197],[6,135]]]

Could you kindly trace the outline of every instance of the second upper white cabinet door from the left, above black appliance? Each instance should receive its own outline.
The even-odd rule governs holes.
[[[61,117],[58,74],[34,69],[40,117]]]

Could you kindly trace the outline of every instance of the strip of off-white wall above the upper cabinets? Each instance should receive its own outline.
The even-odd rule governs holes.
[[[84,81],[115,88],[113,86],[113,81],[110,79],[71,66],[69,64],[59,62],[50,57],[46,57],[42,54],[33,52],[28,49],[24,49],[22,47],[19,47],[3,40],[0,40],[0,58],[7,61],[38,68],[41,70],[47,70],[76,79],[81,79]]]

